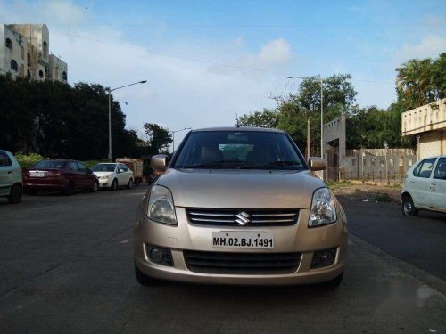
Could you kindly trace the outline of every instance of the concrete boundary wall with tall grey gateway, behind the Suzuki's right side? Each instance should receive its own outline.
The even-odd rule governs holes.
[[[326,179],[366,179],[399,183],[406,171],[417,161],[412,149],[352,149],[346,146],[345,116],[324,125],[324,157]]]

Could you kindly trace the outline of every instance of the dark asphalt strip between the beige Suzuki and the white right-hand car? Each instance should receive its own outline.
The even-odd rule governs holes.
[[[405,217],[396,203],[339,200],[347,212],[349,232],[446,280],[446,214],[420,211]]]

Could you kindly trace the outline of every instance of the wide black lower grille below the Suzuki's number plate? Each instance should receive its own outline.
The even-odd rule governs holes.
[[[187,268],[194,273],[294,273],[301,253],[230,253],[185,250]]]

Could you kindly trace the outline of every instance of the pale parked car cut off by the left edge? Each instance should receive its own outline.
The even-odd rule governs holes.
[[[21,167],[11,152],[0,150],[0,197],[12,204],[21,202],[23,183]]]

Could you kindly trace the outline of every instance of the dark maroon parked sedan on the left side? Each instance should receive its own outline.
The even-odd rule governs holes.
[[[25,191],[61,191],[70,195],[73,191],[92,191],[99,189],[96,175],[83,163],[76,160],[45,159],[31,168],[23,170]]]

